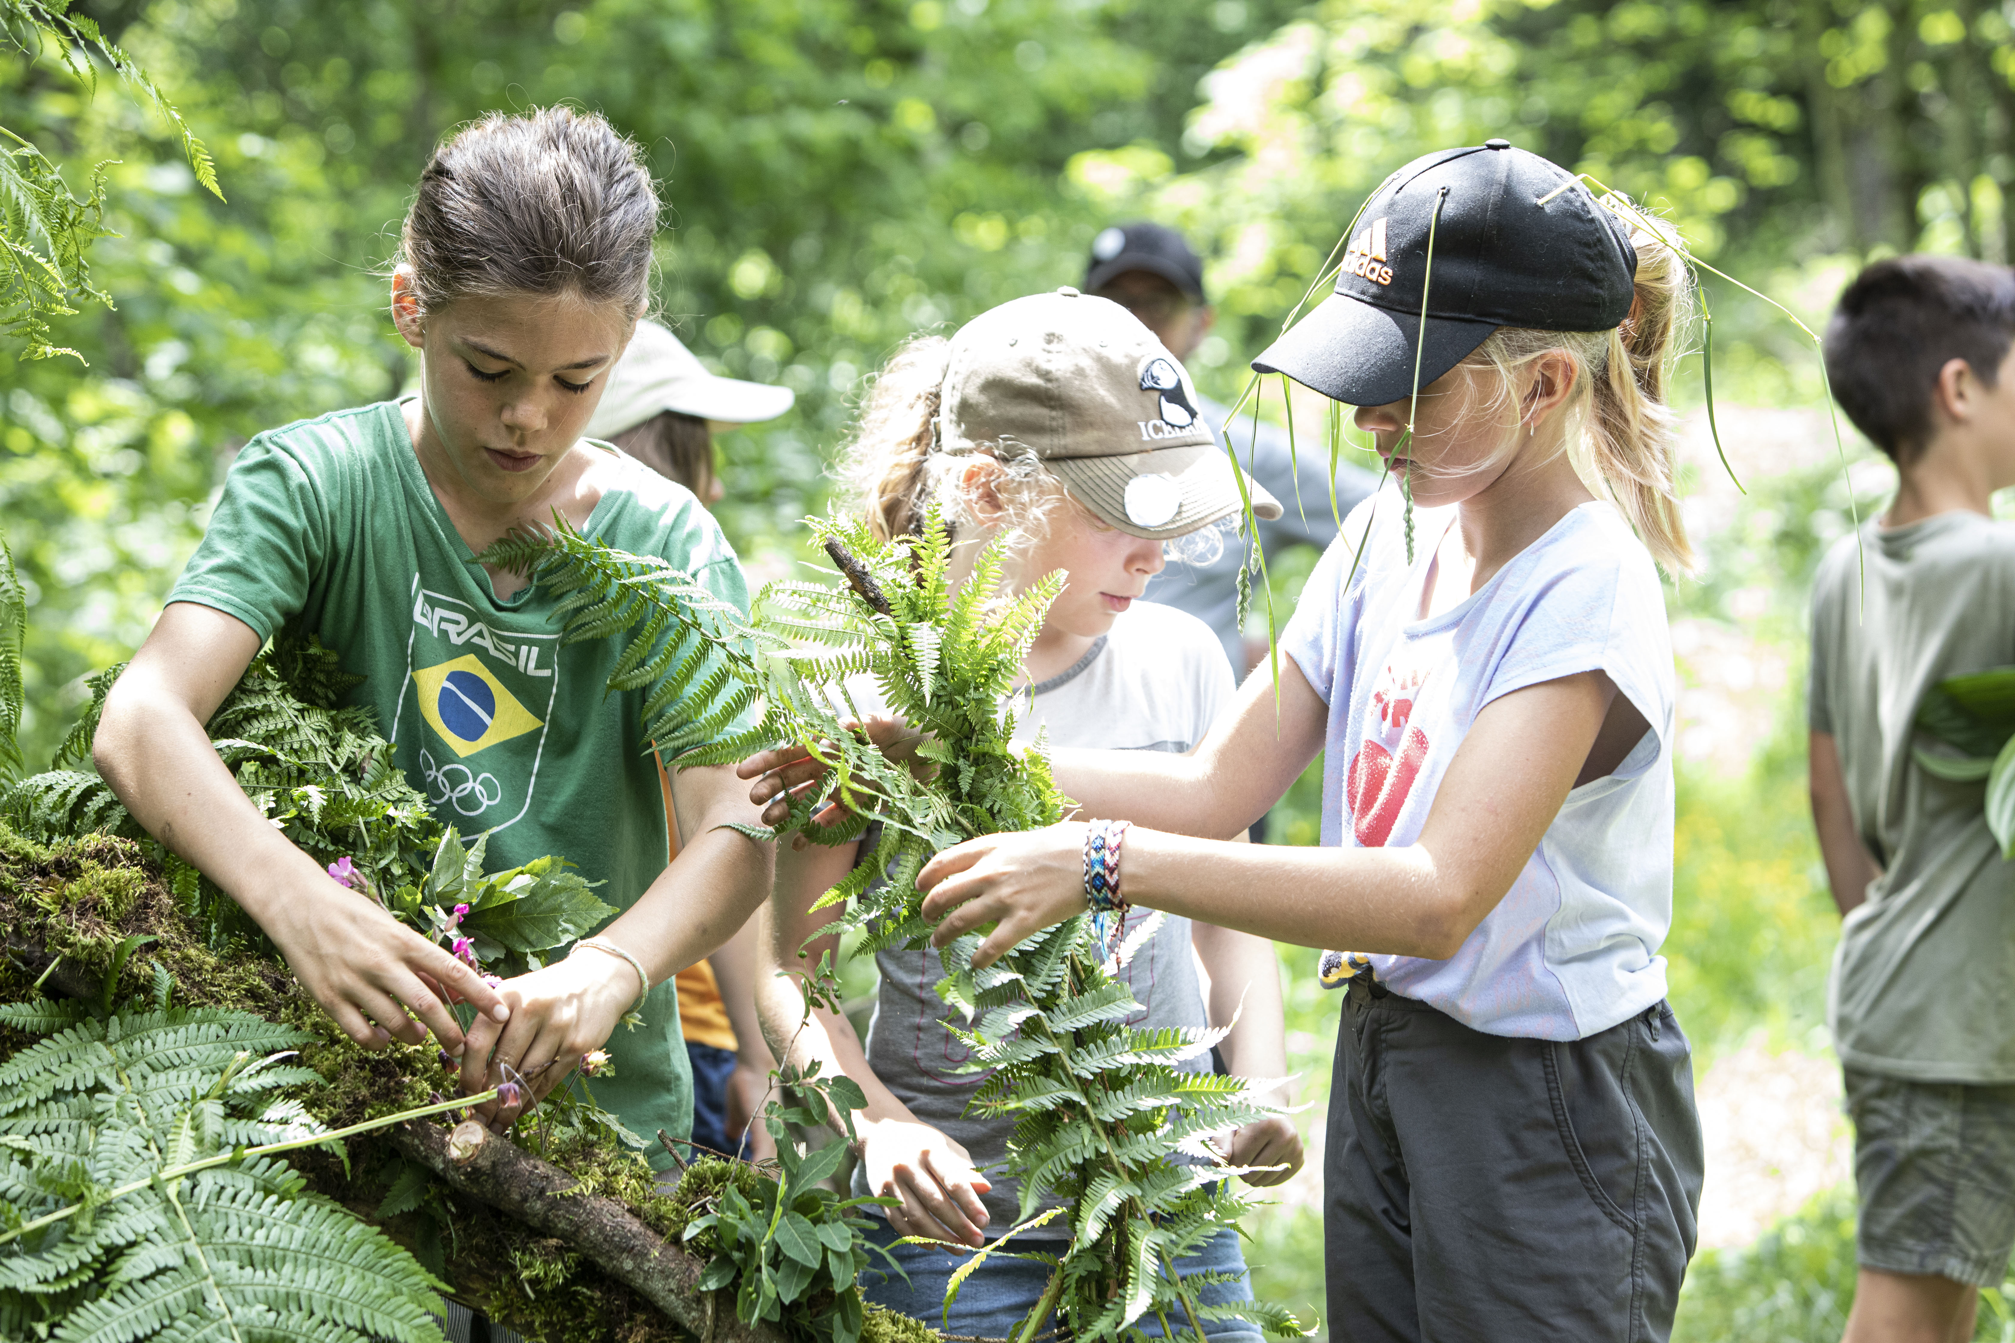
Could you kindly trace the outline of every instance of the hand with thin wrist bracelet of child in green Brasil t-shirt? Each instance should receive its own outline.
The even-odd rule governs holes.
[[[568,956],[504,981],[498,993],[510,1007],[510,1025],[478,1019],[469,1027],[461,1093],[516,1081],[522,1087],[516,1103],[488,1101],[476,1109],[478,1120],[502,1134],[566,1081],[584,1053],[602,1047],[637,1001],[637,971],[600,952]]]

